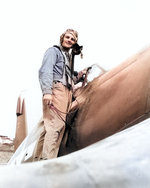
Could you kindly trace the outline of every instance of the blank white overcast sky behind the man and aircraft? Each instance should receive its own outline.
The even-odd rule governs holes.
[[[3,0],[0,2],[0,135],[15,136],[17,98],[22,91],[29,132],[42,116],[38,70],[47,48],[73,28],[83,60],[108,70],[150,43],[149,0]]]

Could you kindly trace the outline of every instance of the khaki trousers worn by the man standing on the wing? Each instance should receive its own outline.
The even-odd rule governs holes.
[[[64,121],[66,120],[66,113],[70,109],[72,100],[71,93],[60,82],[53,84],[53,106],[55,108],[52,109],[48,105],[43,104],[43,122],[41,122],[43,124],[43,132],[34,150],[35,160],[57,157],[65,131]]]

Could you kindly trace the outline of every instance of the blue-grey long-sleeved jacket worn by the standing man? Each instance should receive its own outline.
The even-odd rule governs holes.
[[[42,66],[39,70],[39,82],[43,95],[52,94],[54,80],[59,80],[64,85],[67,85],[63,76],[64,61],[66,60],[66,58],[64,60],[64,56],[56,47],[51,47],[45,52]]]

